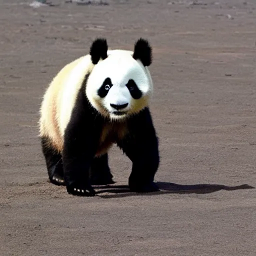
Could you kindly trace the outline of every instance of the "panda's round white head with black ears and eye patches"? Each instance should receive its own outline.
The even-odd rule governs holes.
[[[86,96],[94,108],[110,119],[127,118],[148,104],[153,85],[147,66],[151,47],[142,38],[133,51],[107,50],[105,39],[90,47],[93,68],[86,82]]]

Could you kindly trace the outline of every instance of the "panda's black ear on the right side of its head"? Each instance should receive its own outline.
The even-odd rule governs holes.
[[[152,50],[148,41],[139,38],[134,45],[132,56],[134,59],[139,59],[144,66],[149,66],[152,62]]]

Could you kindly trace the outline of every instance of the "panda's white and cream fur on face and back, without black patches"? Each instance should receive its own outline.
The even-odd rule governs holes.
[[[47,136],[57,151],[63,147],[63,135],[69,122],[76,95],[86,74],[89,74],[85,94],[91,105],[106,118],[121,120],[147,106],[152,94],[153,84],[146,66],[132,57],[133,51],[108,50],[108,57],[96,65],[90,55],[82,56],[65,65],[52,79],[47,88],[40,108],[40,136]],[[103,80],[110,77],[113,86],[102,99],[97,90]],[[133,99],[125,86],[133,79],[142,92],[142,97]],[[110,103],[128,103],[123,109],[125,115],[115,115]]]

